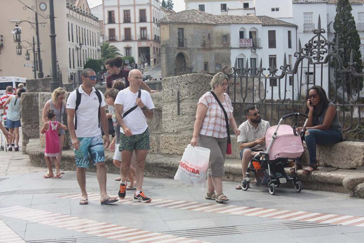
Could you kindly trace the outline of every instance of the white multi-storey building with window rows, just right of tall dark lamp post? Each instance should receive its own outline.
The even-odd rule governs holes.
[[[88,59],[101,59],[101,24],[87,0],[67,0],[68,79],[80,83]]]

